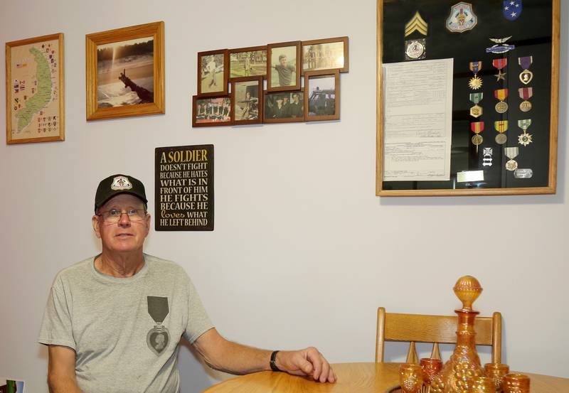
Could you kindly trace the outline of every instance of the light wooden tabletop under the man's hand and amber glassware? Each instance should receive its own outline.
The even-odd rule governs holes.
[[[398,384],[400,363],[341,363],[332,365],[338,381],[320,384],[285,372],[255,372],[228,379],[203,393],[383,393]],[[528,374],[531,393],[569,392],[569,379]]]

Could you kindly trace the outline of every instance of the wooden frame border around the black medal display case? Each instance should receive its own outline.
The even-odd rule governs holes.
[[[472,195],[541,195],[555,194],[557,189],[557,136],[559,106],[560,65],[560,0],[552,0],[552,50],[551,50],[551,114],[549,144],[549,178],[546,187],[528,188],[485,188],[477,190],[383,190],[383,0],[377,0],[377,85],[376,85],[376,195],[381,197],[400,196],[472,196]]]

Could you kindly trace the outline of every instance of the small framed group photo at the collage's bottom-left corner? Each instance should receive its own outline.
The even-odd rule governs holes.
[[[192,121],[194,127],[230,126],[231,97],[198,97],[192,99]]]

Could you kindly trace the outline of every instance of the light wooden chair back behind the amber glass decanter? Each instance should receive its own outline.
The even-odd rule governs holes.
[[[383,363],[385,341],[408,341],[407,362],[418,364],[415,343],[432,343],[431,357],[440,359],[439,344],[457,343],[457,316],[425,316],[420,314],[385,313],[378,308],[376,363]],[[492,347],[492,362],[501,362],[502,316],[477,317],[476,344]]]

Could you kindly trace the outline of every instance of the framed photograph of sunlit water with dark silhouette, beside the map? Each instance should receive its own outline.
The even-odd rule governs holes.
[[[87,120],[164,113],[164,22],[85,36]]]

